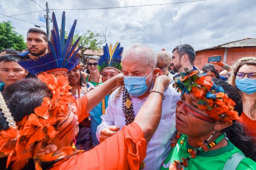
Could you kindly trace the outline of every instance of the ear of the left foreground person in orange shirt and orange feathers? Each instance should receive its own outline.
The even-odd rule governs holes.
[[[37,142],[34,146],[33,156],[46,155],[57,151],[57,146],[52,143]]]

